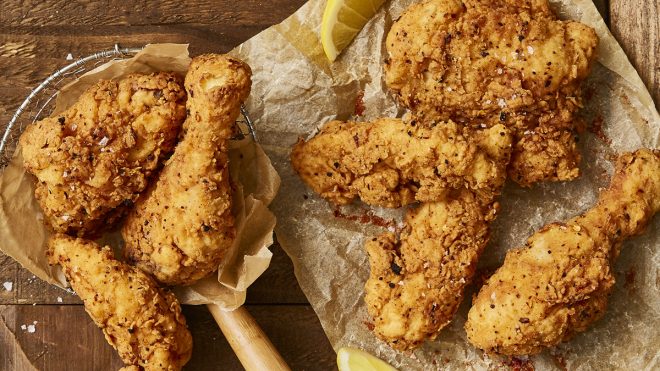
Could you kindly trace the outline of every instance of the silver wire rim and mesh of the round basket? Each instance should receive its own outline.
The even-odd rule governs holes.
[[[59,89],[67,83],[79,78],[85,72],[90,71],[103,63],[111,60],[130,58],[137,54],[139,48],[122,48],[118,44],[110,50],[103,50],[84,58],[80,58],[66,65],[48,76],[39,86],[34,88],[18,107],[0,140],[0,169],[3,169],[11,160],[16,150],[18,138],[23,129],[35,121],[47,117],[55,108],[54,98],[57,97]],[[237,122],[239,136],[237,139],[250,135],[254,141],[257,140],[252,120],[248,116],[245,107],[241,107],[242,120]],[[247,131],[247,133],[245,132]]]

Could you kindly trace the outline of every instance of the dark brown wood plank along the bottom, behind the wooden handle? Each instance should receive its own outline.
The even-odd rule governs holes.
[[[260,305],[248,306],[248,310],[293,370],[335,367],[335,353],[309,306]],[[242,369],[205,307],[184,306],[183,312],[194,339],[193,356],[186,369]],[[101,330],[80,305],[0,306],[0,320],[39,370],[61,370],[65,365],[75,365],[78,370],[117,370],[122,366]],[[26,326],[25,330],[22,325]],[[28,332],[28,325],[35,326],[34,332]],[[8,349],[10,344],[0,343],[0,348]]]

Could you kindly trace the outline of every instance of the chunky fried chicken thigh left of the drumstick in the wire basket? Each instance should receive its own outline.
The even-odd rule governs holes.
[[[172,73],[100,81],[68,110],[34,123],[20,138],[26,170],[48,224],[97,235],[131,205],[172,151],[186,114]]]

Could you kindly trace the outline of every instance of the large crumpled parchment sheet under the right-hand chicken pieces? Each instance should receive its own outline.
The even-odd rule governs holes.
[[[438,339],[412,353],[393,351],[368,330],[363,285],[369,265],[363,242],[383,228],[349,220],[373,219],[361,217],[372,210],[364,205],[342,207],[335,213],[294,174],[288,156],[299,136],[309,136],[331,119],[349,118],[362,92],[366,109],[360,120],[402,113],[387,93],[382,62],[387,30],[411,3],[387,2],[333,64],[326,61],[318,41],[323,0],[308,2],[283,23],[234,50],[253,68],[248,110],[260,142],[283,179],[283,191],[273,202],[278,241],[292,258],[300,285],[334,348],[362,348],[406,370],[493,369],[511,362],[537,369],[658,367],[660,218],[644,236],[625,244],[615,266],[618,282],[605,318],[571,342],[541,355],[510,360],[475,350],[463,330],[473,291],[466,293],[454,321]],[[653,101],[594,4],[590,0],[553,0],[552,4],[561,18],[587,23],[600,36],[598,63],[585,84],[588,98],[583,115],[587,122],[602,120],[602,133],[600,137],[591,132],[580,135],[584,158],[579,180],[532,189],[506,186],[482,268],[497,267],[508,249],[522,245],[547,222],[572,217],[593,205],[598,188],[608,183],[613,154],[657,148],[660,143],[660,120]],[[396,227],[403,212],[373,209],[374,215],[395,221],[390,228]],[[342,214],[348,218],[335,216]]]

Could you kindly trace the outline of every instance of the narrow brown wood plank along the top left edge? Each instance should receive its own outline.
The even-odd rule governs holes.
[[[305,0],[5,0],[0,22],[8,26],[156,24],[275,24]]]

